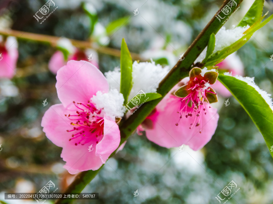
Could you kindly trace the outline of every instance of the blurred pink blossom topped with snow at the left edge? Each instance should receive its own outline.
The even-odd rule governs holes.
[[[18,59],[18,44],[15,37],[8,37],[6,41],[0,36],[0,78],[11,79],[16,73]]]

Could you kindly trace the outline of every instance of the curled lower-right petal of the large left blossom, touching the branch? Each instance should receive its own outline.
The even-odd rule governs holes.
[[[108,120],[105,117],[103,128],[103,139],[97,144],[96,155],[101,157],[101,161],[105,164],[109,156],[120,145],[120,129],[115,121]]]

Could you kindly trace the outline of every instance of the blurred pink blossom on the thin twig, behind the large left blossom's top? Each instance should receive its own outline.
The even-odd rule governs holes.
[[[70,55],[68,56],[68,60],[67,60],[67,61],[69,61],[69,60],[77,60],[77,61],[79,61],[79,60],[85,60],[85,61],[89,61],[89,59],[88,59],[89,56],[88,56],[88,54],[87,54],[87,51],[88,51],[88,54],[91,54],[91,52],[94,52],[94,51],[92,51],[92,50],[86,50],[86,52],[84,52],[84,51],[82,51],[82,50],[76,50],[75,53],[70,54]],[[89,53],[89,52],[90,52],[90,53]],[[98,63],[97,63],[98,57],[96,56],[96,53],[95,53],[95,52],[93,53],[93,56],[92,56],[91,59],[92,59],[92,60],[90,60],[89,62],[90,62],[91,64],[93,64],[94,66],[96,66],[97,68],[99,68],[99,65],[98,65]],[[49,64],[48,64],[49,70],[50,70],[52,73],[56,74],[57,71],[58,71],[61,67],[63,67],[63,66],[66,65],[67,61],[65,60],[64,55],[63,55],[63,53],[62,53],[61,51],[56,51],[56,52],[52,55],[52,57],[50,58],[50,60],[49,60]]]

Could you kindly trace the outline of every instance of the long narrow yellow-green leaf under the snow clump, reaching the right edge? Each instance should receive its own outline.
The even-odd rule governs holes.
[[[267,15],[267,14],[265,14]],[[263,19],[265,17],[265,15],[263,17],[261,17],[261,19]],[[224,60],[228,55],[230,55],[231,53],[234,53],[235,51],[237,51],[239,48],[241,48],[250,38],[251,36],[254,34],[255,31],[259,30],[260,28],[262,28],[265,24],[267,24],[271,19],[273,18],[273,15],[271,15],[270,17],[268,17],[265,21],[263,21],[262,23],[254,23],[248,30],[246,30],[244,33],[246,33],[243,37],[241,37],[239,40],[237,40],[236,42],[234,42],[233,44],[231,44],[228,47],[225,47],[223,50],[220,50],[214,54],[212,54],[208,59],[207,62],[204,66],[213,66],[217,63],[220,63],[222,60]],[[260,19],[260,20],[261,20]],[[259,20],[259,21],[260,21]],[[258,21],[258,22],[259,22]]]

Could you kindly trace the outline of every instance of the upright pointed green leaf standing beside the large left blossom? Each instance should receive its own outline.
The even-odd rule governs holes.
[[[128,96],[132,89],[132,71],[133,71],[133,61],[127,44],[122,39],[121,50],[120,50],[120,93],[123,94],[124,104],[127,103]]]

